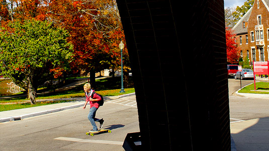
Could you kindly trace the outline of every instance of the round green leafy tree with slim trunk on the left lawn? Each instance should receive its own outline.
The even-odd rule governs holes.
[[[28,92],[31,104],[36,91],[54,74],[68,68],[72,45],[66,30],[47,22],[10,23],[0,30],[0,70]]]

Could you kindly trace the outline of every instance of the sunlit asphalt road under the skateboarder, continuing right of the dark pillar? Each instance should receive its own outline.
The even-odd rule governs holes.
[[[242,81],[242,86],[252,82]],[[269,117],[267,100],[232,95],[238,89],[240,80],[229,79],[231,122]],[[86,135],[92,129],[88,111],[87,106],[0,123],[0,150],[124,150],[126,134],[140,131],[135,96],[105,102],[97,111],[103,128],[112,133]]]

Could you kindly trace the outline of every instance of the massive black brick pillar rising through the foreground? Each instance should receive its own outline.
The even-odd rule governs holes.
[[[118,0],[145,150],[230,150],[223,1]]]

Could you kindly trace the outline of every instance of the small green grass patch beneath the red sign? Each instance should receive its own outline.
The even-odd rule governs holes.
[[[258,82],[256,83],[256,91],[254,91],[254,83],[248,85],[242,90],[238,91],[239,93],[254,93],[254,94],[269,94],[269,83],[268,82]]]

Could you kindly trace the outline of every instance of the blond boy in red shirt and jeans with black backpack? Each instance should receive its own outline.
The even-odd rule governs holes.
[[[84,88],[85,97],[86,97],[86,101],[85,101],[85,104],[83,106],[83,109],[86,108],[86,105],[89,102],[90,109],[89,109],[89,113],[88,113],[88,120],[93,125],[93,129],[92,130],[89,130],[89,132],[95,133],[95,132],[98,132],[98,128],[96,126],[95,121],[97,121],[97,122],[100,123],[100,128],[103,127],[103,123],[104,123],[103,118],[102,119],[98,119],[98,118],[95,117],[96,116],[96,112],[97,112],[98,108],[100,107],[100,105],[98,104],[98,101],[102,100],[102,98],[98,94],[96,94],[96,93],[94,93],[94,96],[92,98],[92,94],[95,91],[91,89],[91,85],[90,84],[85,84],[83,88]]]

